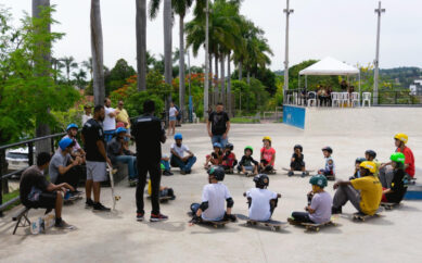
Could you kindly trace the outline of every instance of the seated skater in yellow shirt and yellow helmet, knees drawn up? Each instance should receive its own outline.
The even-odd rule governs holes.
[[[383,193],[380,180],[373,175],[376,171],[374,162],[365,161],[360,164],[360,178],[353,180],[338,180],[333,188],[336,189],[333,199],[333,214],[341,214],[342,208],[350,201],[359,213],[373,215],[380,208]]]

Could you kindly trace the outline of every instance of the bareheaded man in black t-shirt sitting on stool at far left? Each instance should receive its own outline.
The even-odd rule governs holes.
[[[62,220],[63,196],[67,190],[75,189],[67,183],[54,185],[43,176],[43,171],[49,166],[51,156],[41,152],[37,156],[37,165],[25,170],[21,177],[20,195],[21,202],[29,209],[47,209],[46,214],[54,209],[55,227],[69,226]]]

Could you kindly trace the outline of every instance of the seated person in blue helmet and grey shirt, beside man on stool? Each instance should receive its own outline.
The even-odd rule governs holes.
[[[59,141],[60,150],[55,151],[51,158],[49,166],[50,181],[53,184],[67,183],[74,189],[72,196],[80,193],[76,188],[81,177],[81,170],[74,168],[82,162],[80,156],[73,159],[71,152],[75,146],[75,141],[71,138],[63,138]]]

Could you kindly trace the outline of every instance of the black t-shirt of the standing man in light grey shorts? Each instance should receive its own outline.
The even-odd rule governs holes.
[[[90,118],[84,125],[82,135],[85,138],[84,149],[87,152],[87,161],[105,162],[104,156],[100,153],[97,146],[97,141],[102,140],[106,149],[103,127],[94,118]]]

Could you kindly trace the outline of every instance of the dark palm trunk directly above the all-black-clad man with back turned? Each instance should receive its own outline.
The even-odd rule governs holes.
[[[146,0],[137,0],[138,90],[146,89]]]

